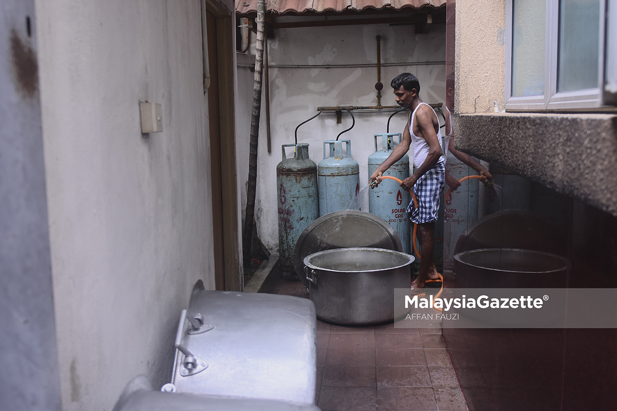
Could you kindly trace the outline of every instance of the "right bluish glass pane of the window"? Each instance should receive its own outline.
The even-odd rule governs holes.
[[[560,0],[557,91],[598,87],[600,0]]]

